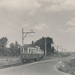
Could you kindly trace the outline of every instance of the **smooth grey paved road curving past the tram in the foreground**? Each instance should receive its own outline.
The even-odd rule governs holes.
[[[69,57],[56,58],[52,60],[34,62],[18,67],[11,67],[0,70],[0,75],[64,75],[56,71],[55,65],[61,60],[67,60]]]

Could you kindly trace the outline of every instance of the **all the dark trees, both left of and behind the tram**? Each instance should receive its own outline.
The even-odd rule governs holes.
[[[45,42],[46,39],[46,42]],[[15,43],[11,43],[10,47],[7,48],[6,45],[8,43],[8,39],[6,37],[2,37],[0,39],[0,56],[19,56],[20,55],[20,45],[17,41]],[[53,39],[50,37],[42,37],[39,40],[32,42],[32,45],[39,46],[42,50],[45,51],[45,43],[46,43],[46,50],[47,55],[50,55],[54,53],[54,48],[51,47],[51,44],[53,44]]]

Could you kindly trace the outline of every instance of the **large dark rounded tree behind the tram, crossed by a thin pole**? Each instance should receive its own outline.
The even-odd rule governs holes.
[[[35,42],[35,45],[39,46],[42,50],[45,51],[45,39],[46,39],[46,49],[47,49],[47,55],[50,55],[51,53],[53,53],[52,49],[51,49],[51,44],[53,43],[53,39],[50,37],[42,37],[39,40],[37,40]]]

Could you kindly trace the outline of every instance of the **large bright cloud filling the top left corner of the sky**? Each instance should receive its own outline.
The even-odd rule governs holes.
[[[41,4],[37,0],[2,0],[0,2],[0,8],[4,7],[6,9],[16,9],[33,11],[40,8]]]

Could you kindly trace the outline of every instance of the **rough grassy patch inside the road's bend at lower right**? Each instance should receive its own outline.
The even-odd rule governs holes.
[[[57,67],[57,69],[59,71],[75,75],[75,58],[68,61],[63,61],[58,66],[59,67]]]

